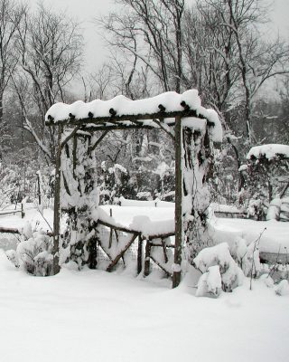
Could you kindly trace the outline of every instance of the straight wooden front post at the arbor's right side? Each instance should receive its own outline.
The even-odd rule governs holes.
[[[175,118],[174,126],[175,147],[175,249],[174,264],[180,266],[180,271],[172,273],[172,288],[176,288],[181,282],[182,262],[182,123],[181,116]]]

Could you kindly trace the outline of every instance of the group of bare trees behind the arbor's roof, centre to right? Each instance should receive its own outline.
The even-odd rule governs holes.
[[[197,88],[203,104],[217,110],[226,129],[215,175],[223,175],[217,167],[222,170],[228,159],[230,175],[228,182],[215,184],[215,191],[218,194],[221,186],[229,195],[232,185],[238,185],[234,190],[238,197],[245,181],[239,175],[236,183],[238,167],[264,133],[259,131],[263,119],[256,117],[259,90],[289,71],[288,44],[262,33],[261,25],[267,22],[265,2],[198,0],[190,7],[179,0],[117,4],[123,11],[118,8],[98,19],[113,54],[107,67],[114,90],[136,99]],[[109,93],[109,86],[106,90]]]

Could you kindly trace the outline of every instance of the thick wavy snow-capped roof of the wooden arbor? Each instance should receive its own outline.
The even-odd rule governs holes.
[[[215,110],[201,106],[198,90],[182,94],[168,91],[153,98],[129,100],[117,96],[112,100],[78,100],[70,105],[56,103],[45,116],[48,126],[76,125],[85,130],[148,128],[165,129],[173,126],[175,117],[207,119],[210,138],[221,142],[222,129]]]

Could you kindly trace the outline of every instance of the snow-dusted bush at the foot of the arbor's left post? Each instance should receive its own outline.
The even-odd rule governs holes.
[[[6,255],[16,267],[22,267],[33,275],[48,276],[53,266],[52,245],[51,237],[38,231],[19,243],[16,251],[7,251]]]

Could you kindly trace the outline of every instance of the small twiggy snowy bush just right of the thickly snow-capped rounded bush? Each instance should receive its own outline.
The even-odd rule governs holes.
[[[237,237],[230,247],[230,252],[245,276],[256,278],[259,275],[261,264],[257,242],[247,245],[245,239]]]

